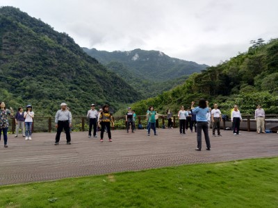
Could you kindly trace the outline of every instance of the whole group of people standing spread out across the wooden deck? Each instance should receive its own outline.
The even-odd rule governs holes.
[[[195,128],[195,132],[197,132],[197,148],[196,150],[202,150],[202,131],[204,132],[204,137],[206,141],[206,150],[211,149],[210,139],[208,135],[209,122],[213,123],[213,134],[215,137],[215,131],[217,130],[218,137],[221,137],[220,134],[220,122],[222,121],[221,111],[218,109],[218,104],[213,105],[213,110],[208,107],[208,101],[204,99],[199,100],[199,105],[194,107],[195,102],[191,103],[191,107],[187,110],[184,109],[184,106],[181,106],[178,117],[179,117],[179,132],[180,134],[186,134],[186,129],[190,128],[191,132],[193,132],[193,126]],[[56,112],[55,115],[55,124],[57,128],[55,145],[59,144],[60,134],[65,130],[67,144],[71,144],[71,136],[70,136],[70,128],[72,128],[72,114],[67,107],[66,103],[60,104],[61,109]],[[22,136],[25,137],[26,140],[31,140],[32,135],[32,124],[33,117],[35,113],[32,111],[32,106],[27,105],[26,111],[23,112],[23,107],[19,107],[17,113],[15,114],[15,123],[16,123],[16,134],[15,137],[19,135],[19,129],[22,130]],[[172,125],[172,112],[167,110],[167,120],[168,120],[168,128],[173,128]],[[4,147],[8,148],[8,116],[13,116],[13,108],[6,109],[6,104],[4,102],[0,103],[0,140],[1,134],[3,132],[4,139]],[[111,112],[109,112],[109,106],[104,105],[99,112],[95,110],[95,104],[91,105],[91,109],[88,110],[88,120],[89,120],[89,132],[88,137],[92,137],[92,128],[93,128],[93,137],[97,137],[97,128],[100,128],[100,141],[104,140],[104,131],[108,133],[108,141],[112,141],[111,138],[111,123],[112,127],[114,126],[113,117]],[[158,116],[163,116],[158,114],[154,110],[153,106],[150,106],[147,110],[147,135],[150,135],[150,130],[154,130],[154,135],[156,133],[156,119]],[[257,106],[255,111],[255,119],[256,119],[256,128],[257,133],[265,133],[265,112],[261,105]],[[134,132],[135,130],[135,121],[136,121],[136,113],[131,110],[131,107],[128,108],[128,112],[126,112],[126,132],[129,133]],[[238,106],[234,105],[234,108],[231,109],[231,121],[234,135],[239,134],[240,122],[242,121],[242,117],[240,111],[238,110]]]

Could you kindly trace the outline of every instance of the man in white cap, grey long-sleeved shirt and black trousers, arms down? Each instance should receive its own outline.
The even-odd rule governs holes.
[[[61,109],[56,112],[55,115],[55,126],[57,128],[57,134],[55,138],[55,145],[59,144],[60,134],[65,130],[65,137],[67,139],[67,144],[72,144],[72,139],[70,137],[70,128],[72,128],[72,113],[67,110],[67,104],[61,103]]]

